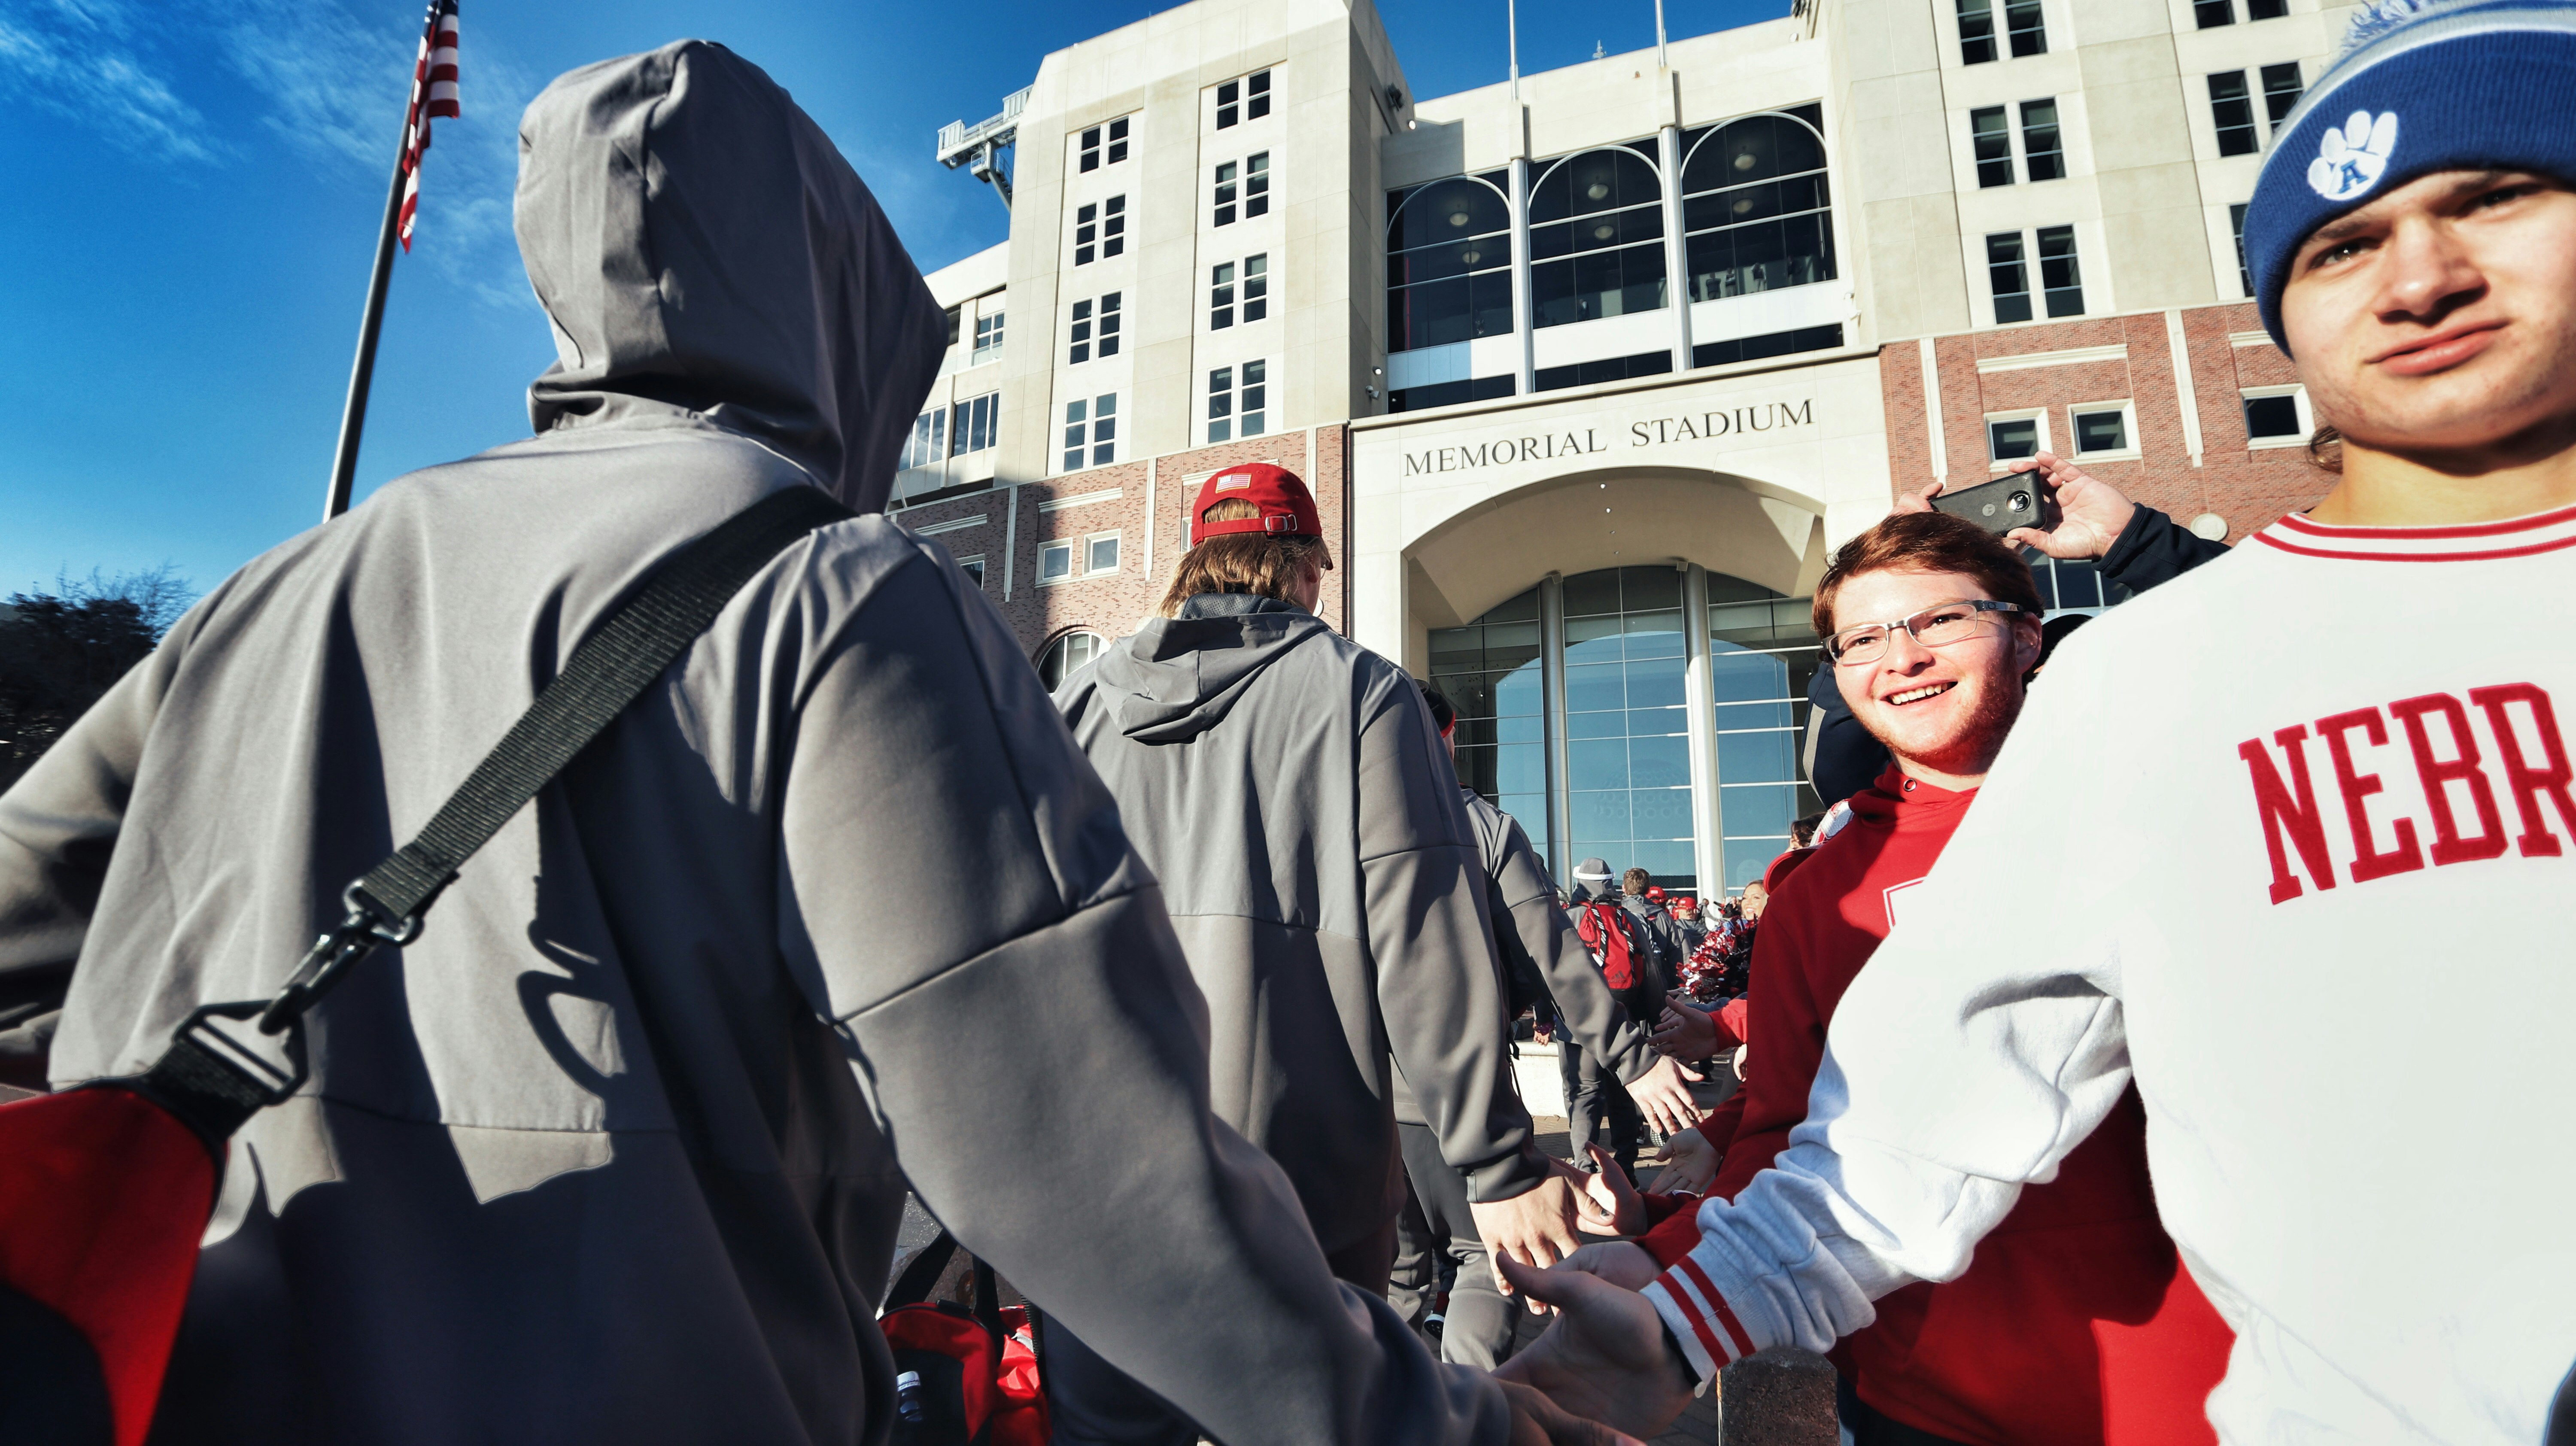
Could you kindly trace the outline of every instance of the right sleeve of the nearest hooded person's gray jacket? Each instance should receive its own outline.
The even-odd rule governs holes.
[[[922,554],[814,647],[781,938],[922,1204],[1221,1441],[1502,1441],[1211,1116],[1162,894],[992,603]]]

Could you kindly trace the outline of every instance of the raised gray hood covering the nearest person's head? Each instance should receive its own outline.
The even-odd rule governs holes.
[[[536,430],[703,418],[873,513],[945,348],[868,186],[708,41],[585,64],[518,124],[518,250],[554,320]]]

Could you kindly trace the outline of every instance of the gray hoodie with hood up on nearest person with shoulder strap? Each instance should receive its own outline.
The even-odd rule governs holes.
[[[556,80],[520,155],[538,436],[242,567],[0,796],[0,977],[77,959],[57,1083],[270,995],[677,546],[781,487],[884,500],[940,309],[783,90],[685,41]],[[917,907],[958,876],[984,907]],[[1208,1113],[1115,804],[886,518],[760,572],[312,1031],[157,1443],[884,1441],[907,1181],[1229,1443],[1504,1431]]]

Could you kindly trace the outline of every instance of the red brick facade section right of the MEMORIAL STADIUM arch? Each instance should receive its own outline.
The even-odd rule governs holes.
[[[2200,423],[2197,461],[2184,428],[2184,374],[2174,369],[2169,317],[2179,320],[2187,376],[2197,402],[2192,407]],[[2172,314],[2079,317],[1932,338],[1947,487],[1971,487],[1991,474],[1986,418],[1994,412],[2045,410],[2050,448],[2074,456],[2069,407],[2130,402],[2136,407],[2130,441],[2138,456],[2079,459],[2079,464],[2177,521],[2187,523],[2202,513],[2218,513],[2228,523],[2228,541],[2241,541],[2272,518],[2308,508],[2334,485],[2326,472],[2308,461],[2306,448],[2251,446],[2246,438],[2244,389],[2298,381],[2290,358],[2259,333],[2262,320],[2254,307],[2236,302]],[[2040,366],[1991,369],[2002,358],[2045,353],[2074,356],[2050,356]],[[1981,371],[1978,363],[1989,369]],[[1891,495],[1896,495],[1935,477],[1922,343],[1904,340],[1880,348],[1878,376],[1888,418],[1888,482]]]

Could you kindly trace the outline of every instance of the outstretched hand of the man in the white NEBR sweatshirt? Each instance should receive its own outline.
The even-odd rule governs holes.
[[[1502,1271],[1530,1299],[1556,1307],[1556,1322],[1494,1379],[1538,1387],[1564,1410],[1631,1436],[1659,1436],[1682,1415],[1690,1366],[1664,1343],[1654,1302],[1587,1271],[1530,1271],[1517,1260]]]

